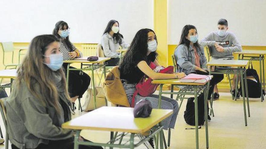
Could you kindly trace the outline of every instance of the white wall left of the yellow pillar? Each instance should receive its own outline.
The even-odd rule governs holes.
[[[118,20],[130,43],[141,28],[153,28],[153,0],[0,0],[0,42],[30,42],[51,34],[64,20],[75,43],[98,43],[109,20]]]

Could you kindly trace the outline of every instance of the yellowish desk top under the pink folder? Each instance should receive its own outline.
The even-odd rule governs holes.
[[[195,83],[195,82],[180,82],[180,79],[161,79],[153,80],[153,84],[174,84],[174,85],[205,85],[208,81],[204,83]]]

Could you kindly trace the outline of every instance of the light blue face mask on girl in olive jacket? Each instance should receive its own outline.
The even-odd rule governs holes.
[[[53,71],[59,70],[63,65],[63,56],[61,53],[51,54],[50,56],[44,56],[50,58],[50,64],[44,63],[47,67],[49,67]]]

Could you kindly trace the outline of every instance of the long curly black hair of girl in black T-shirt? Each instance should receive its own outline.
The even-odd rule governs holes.
[[[157,52],[151,52],[148,56],[148,33],[154,31],[152,29],[141,29],[139,30],[134,39],[132,40],[128,51],[123,57],[122,62],[119,64],[119,69],[125,74],[131,73],[131,67],[136,67],[137,55],[141,55],[147,64],[150,64],[151,61],[154,61],[157,57]],[[156,34],[154,33],[155,37]],[[157,38],[156,38],[157,42]]]

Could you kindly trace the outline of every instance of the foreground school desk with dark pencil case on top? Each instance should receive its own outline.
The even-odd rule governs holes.
[[[69,122],[63,123],[62,128],[76,130],[74,149],[78,149],[78,146],[81,144],[133,149],[157,134],[160,134],[160,137],[157,136],[156,140],[160,140],[160,148],[163,149],[163,126],[158,124],[173,114],[173,110],[152,109],[151,115],[147,118],[134,118],[133,110],[134,108],[130,107],[100,107],[82,116],[74,118]],[[110,141],[107,143],[80,141],[79,134],[83,129],[126,132],[130,136],[130,139],[126,140],[124,137],[123,144],[121,144],[121,141],[117,143],[118,140],[125,136],[125,134],[122,133],[123,135],[118,135],[114,138],[111,135]],[[144,134],[151,129],[153,130],[152,133],[145,137],[144,140],[140,140],[137,143],[134,142],[134,137],[136,135]],[[155,143],[156,148],[158,148],[157,141],[155,141]]]

